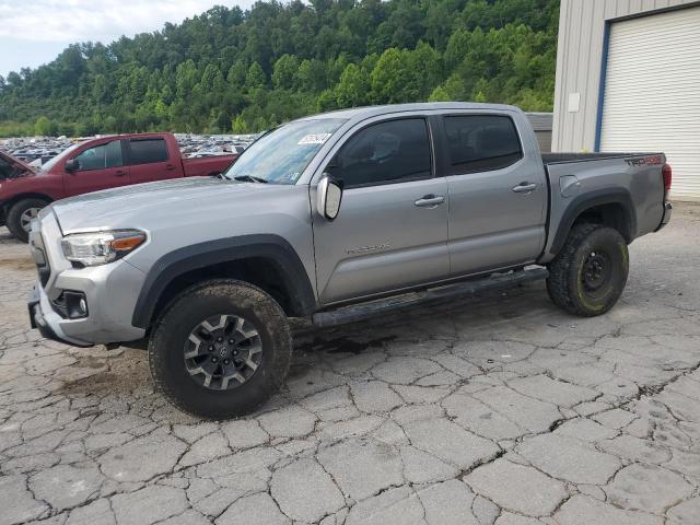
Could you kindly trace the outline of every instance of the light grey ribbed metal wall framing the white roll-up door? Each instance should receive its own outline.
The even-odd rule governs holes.
[[[698,0],[561,0],[553,151],[594,151],[606,23]],[[576,110],[570,107],[579,94]]]

